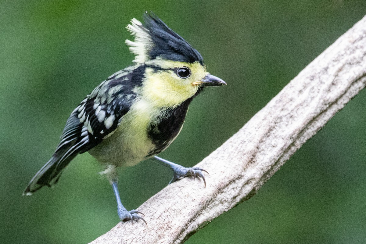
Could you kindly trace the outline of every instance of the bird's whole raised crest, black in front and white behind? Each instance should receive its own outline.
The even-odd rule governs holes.
[[[203,65],[201,54],[156,15],[145,12],[143,19],[144,24],[133,18],[127,25],[127,30],[135,36],[134,41],[126,40],[130,51],[136,55],[134,62],[145,63],[160,57]]]

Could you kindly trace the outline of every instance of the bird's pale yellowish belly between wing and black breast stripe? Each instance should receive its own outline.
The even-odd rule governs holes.
[[[88,152],[97,161],[106,165],[138,164],[156,147],[147,135],[147,130],[151,121],[155,120],[159,113],[160,110],[154,110],[146,102],[137,102],[123,116],[114,133]]]

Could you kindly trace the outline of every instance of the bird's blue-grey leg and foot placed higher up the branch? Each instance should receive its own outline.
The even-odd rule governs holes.
[[[158,164],[164,165],[165,167],[168,167],[169,169],[173,170],[173,178],[169,182],[169,184],[173,183],[174,181],[177,181],[179,179],[189,176],[189,177],[193,177],[194,179],[196,179],[196,177],[202,178],[203,183],[205,183],[205,187],[206,187],[205,176],[202,173],[202,172],[208,173],[206,170],[201,169],[199,167],[186,168],[186,167],[183,167],[182,165],[175,164],[173,162],[170,162],[170,161],[160,158],[158,156],[155,156],[154,159],[155,159],[154,161],[156,161]]]

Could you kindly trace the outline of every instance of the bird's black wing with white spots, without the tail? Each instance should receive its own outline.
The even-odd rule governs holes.
[[[129,69],[116,72],[86,96],[67,120],[56,153],[65,147],[65,158],[84,153],[113,133],[136,97],[132,73]]]

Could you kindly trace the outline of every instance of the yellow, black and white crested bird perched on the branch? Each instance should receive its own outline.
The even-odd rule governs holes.
[[[120,221],[146,221],[128,211],[118,191],[118,167],[153,159],[173,171],[169,184],[198,177],[206,185],[206,170],[187,168],[157,156],[183,127],[193,98],[206,87],[227,85],[206,71],[201,54],[153,12],[133,18],[126,40],[135,55],[132,65],[109,76],[72,111],[51,159],[36,173],[23,195],[53,187],[76,155],[88,152],[103,167],[112,185]]]

